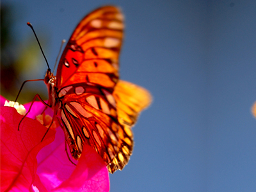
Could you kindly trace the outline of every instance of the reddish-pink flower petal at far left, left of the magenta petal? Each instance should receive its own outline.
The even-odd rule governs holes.
[[[54,140],[55,131],[24,118],[11,107],[1,107],[1,191],[29,191],[36,177],[36,154]]]

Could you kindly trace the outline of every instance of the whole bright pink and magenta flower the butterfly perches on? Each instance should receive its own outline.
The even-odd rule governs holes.
[[[74,166],[65,152],[60,127],[49,130],[41,142],[47,128],[31,118],[42,113],[44,104],[33,104],[31,118],[24,118],[18,131],[22,115],[15,108],[3,107],[4,101],[0,96],[1,191],[109,191],[106,165],[91,147],[84,146]],[[24,107],[28,110],[29,106]],[[51,109],[45,112],[52,115]]]

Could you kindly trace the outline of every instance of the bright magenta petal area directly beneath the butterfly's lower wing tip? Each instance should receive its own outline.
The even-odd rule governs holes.
[[[85,145],[77,166],[74,166],[65,152],[62,129],[59,127],[56,131],[56,139],[42,148],[37,156],[37,173],[45,188],[53,191],[109,191],[108,170],[99,154]]]

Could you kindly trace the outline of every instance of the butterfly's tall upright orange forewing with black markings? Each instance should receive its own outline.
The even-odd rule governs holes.
[[[118,80],[118,56],[123,38],[123,15],[115,6],[90,13],[77,25],[58,65],[58,90],[74,83],[113,88]]]

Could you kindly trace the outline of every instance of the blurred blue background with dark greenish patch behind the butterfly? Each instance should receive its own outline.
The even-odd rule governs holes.
[[[135,147],[110,191],[256,191],[256,1],[1,1],[1,95],[42,79],[61,40],[105,4],[125,15],[120,76],[154,101],[133,128]],[[28,83],[19,102],[43,82]]]

